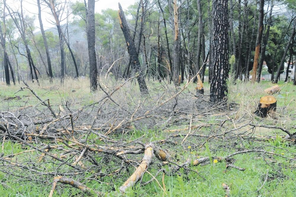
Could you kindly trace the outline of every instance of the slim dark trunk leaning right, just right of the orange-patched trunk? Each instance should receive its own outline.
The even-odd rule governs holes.
[[[267,28],[266,28],[266,35],[265,35],[265,38],[263,40],[263,46],[262,46],[262,49],[261,49],[261,56],[260,56],[260,63],[259,63],[259,68],[258,68],[258,76],[257,76],[257,82],[258,83],[260,82],[262,66],[263,66],[263,62],[264,62],[264,58],[265,58],[266,46],[267,46],[267,43],[268,43],[268,37],[269,37],[269,30],[270,30],[270,26],[271,26],[273,7],[274,7],[274,0],[271,0],[268,23],[267,23]]]

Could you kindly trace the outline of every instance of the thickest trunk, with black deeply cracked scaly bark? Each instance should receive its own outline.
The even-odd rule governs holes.
[[[213,0],[212,77],[210,101],[227,100],[228,79],[228,0]]]

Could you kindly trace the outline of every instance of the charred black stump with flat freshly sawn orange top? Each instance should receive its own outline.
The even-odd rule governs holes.
[[[260,98],[256,112],[257,116],[262,118],[267,117],[268,114],[276,111],[276,98],[273,96],[263,96]]]

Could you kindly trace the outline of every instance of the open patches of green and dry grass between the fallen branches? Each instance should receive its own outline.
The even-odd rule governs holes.
[[[41,87],[36,84],[30,84],[33,89],[43,99],[50,99],[52,105],[58,106],[59,103],[68,100],[73,104],[86,105],[95,102],[102,95],[102,91],[96,93],[90,93],[88,80],[80,79],[78,81],[66,80],[63,86],[60,86],[58,82],[53,85],[49,85],[46,82],[41,82]],[[114,82],[108,82],[114,83]],[[160,85],[158,82],[149,82],[149,86],[155,87]],[[231,115],[233,119],[239,119],[241,117],[257,120],[252,116],[252,112],[255,111],[258,100],[265,93],[263,90],[272,86],[270,82],[263,81],[260,84],[241,83],[236,85],[230,83],[229,85],[229,101],[238,104],[237,114]],[[295,126],[296,118],[296,87],[292,83],[279,83],[281,92],[276,94],[277,106],[279,107],[279,119],[274,122],[271,118],[264,120],[258,119],[260,124],[278,125],[285,127]],[[7,87],[4,84],[0,84],[0,101],[1,111],[11,111],[24,105],[36,105],[38,101],[29,93],[24,90],[17,92],[23,85],[16,85]],[[194,90],[194,84],[189,85],[190,90]],[[205,84],[205,92],[208,93],[209,85]],[[215,119],[215,117],[213,117]],[[213,121],[214,122],[214,121]],[[229,127],[233,127],[229,124]],[[204,130],[207,132],[207,130]],[[284,135],[281,130],[276,129],[260,129],[256,131],[258,135]],[[295,129],[291,130],[295,132]],[[154,130],[134,130],[127,134],[127,138],[133,140],[142,135],[145,135],[143,141],[154,141],[165,138],[167,133],[157,132]],[[240,143],[227,144],[225,142],[221,144],[206,143],[204,148],[198,149],[194,138],[189,138],[192,143],[191,146],[178,149],[176,157],[188,158],[199,156],[226,156],[237,151],[239,148],[252,148],[258,146],[264,146],[267,151],[272,151],[277,154],[281,154],[287,157],[295,157],[296,146],[288,146],[281,137],[271,139],[267,142],[245,140]],[[221,148],[222,147],[222,148]],[[198,150],[198,151],[197,151]],[[3,149],[0,150],[1,155],[15,154],[23,151],[22,145],[18,143],[11,143],[7,141],[3,144]],[[30,154],[37,154],[35,152]],[[25,155],[23,155],[25,156]],[[141,186],[136,184],[135,187],[129,189],[124,196],[224,196],[225,190],[221,186],[222,183],[226,183],[230,187],[231,196],[295,196],[296,193],[296,163],[288,161],[285,158],[274,156],[270,158],[273,162],[266,161],[263,156],[256,153],[240,154],[234,157],[237,161],[235,164],[240,167],[246,168],[245,171],[239,171],[237,169],[225,170],[225,163],[219,162],[206,166],[195,166],[192,169],[199,172],[197,175],[195,172],[183,172],[181,170],[180,175],[165,176],[162,181],[162,175],[155,177],[157,181],[152,181],[148,185]],[[180,161],[181,162],[181,161]],[[1,167],[1,166],[0,166]],[[155,174],[156,168],[149,168],[148,171],[151,174]],[[25,173],[25,172],[22,172]],[[105,177],[101,181],[102,184],[94,180],[89,180],[85,184],[90,188],[94,188],[98,191],[115,191],[107,194],[107,196],[120,196],[116,190],[122,185],[131,172],[127,172],[120,176]],[[10,177],[11,178],[11,177]],[[38,177],[34,177],[38,179]],[[145,173],[143,182],[150,180],[152,176],[149,173]],[[15,177],[9,179],[7,175],[0,172],[0,196],[48,196],[51,189],[51,184],[44,183],[38,185],[34,182],[23,182],[22,179]],[[165,192],[160,188],[166,188]],[[79,190],[71,187],[63,187],[56,189],[54,196],[83,196]]]

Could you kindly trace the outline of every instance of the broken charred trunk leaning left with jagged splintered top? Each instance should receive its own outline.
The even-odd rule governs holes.
[[[128,54],[130,55],[130,59],[131,59],[132,69],[134,70],[135,73],[139,74],[137,77],[137,81],[139,83],[141,93],[148,94],[148,88],[147,88],[147,85],[145,82],[144,72],[141,69],[141,65],[139,62],[139,57],[138,57],[138,53],[137,53],[137,50],[135,47],[135,43],[133,42],[133,39],[131,37],[130,30],[128,28],[128,24],[126,22],[126,17],[124,15],[124,12],[122,10],[120,3],[118,3],[118,7],[119,7],[118,14],[119,14],[120,28],[121,28],[124,38],[126,40],[126,44],[128,47]]]

